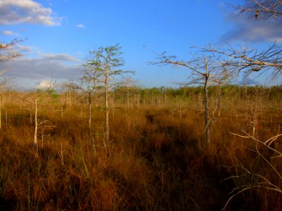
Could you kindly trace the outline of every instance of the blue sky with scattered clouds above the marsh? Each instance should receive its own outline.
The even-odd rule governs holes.
[[[13,86],[44,87],[80,77],[88,52],[120,43],[125,70],[145,87],[175,87],[189,71],[149,65],[156,52],[189,58],[190,46],[224,42],[250,47],[282,41],[281,25],[235,15],[228,4],[207,0],[0,0],[0,41],[27,39],[17,46],[25,56],[9,63]],[[147,46],[145,48],[144,46]]]

